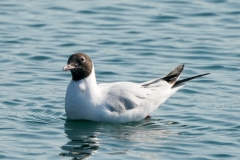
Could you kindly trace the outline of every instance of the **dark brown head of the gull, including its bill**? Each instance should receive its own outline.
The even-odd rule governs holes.
[[[92,73],[92,60],[84,53],[75,53],[68,59],[68,65],[63,67],[63,71],[70,70],[72,79],[79,81],[88,77]]]

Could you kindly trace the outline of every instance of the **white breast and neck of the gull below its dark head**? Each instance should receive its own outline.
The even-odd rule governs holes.
[[[102,103],[94,70],[89,77],[80,81],[71,81],[67,88],[65,110],[70,119],[96,120],[97,106]]]

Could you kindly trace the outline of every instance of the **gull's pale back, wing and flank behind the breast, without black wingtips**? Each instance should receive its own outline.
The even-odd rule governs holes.
[[[99,84],[102,94],[105,95],[103,105],[108,110],[109,121],[120,123],[141,120],[179,89],[172,89],[164,80],[147,87],[143,84],[131,82]]]

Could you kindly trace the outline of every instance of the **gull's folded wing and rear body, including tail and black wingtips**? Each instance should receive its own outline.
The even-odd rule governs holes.
[[[180,89],[187,80],[203,76],[195,76],[177,81],[184,65],[179,65],[163,78],[153,79],[141,84],[119,82],[102,84],[105,106],[111,112],[121,113],[127,117],[141,119],[157,109],[172,94]]]

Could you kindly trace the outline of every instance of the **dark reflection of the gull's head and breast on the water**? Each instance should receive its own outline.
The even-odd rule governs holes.
[[[99,148],[97,135],[101,123],[91,121],[68,121],[65,124],[65,133],[70,140],[61,148],[60,156],[73,157],[73,159],[86,159]]]

